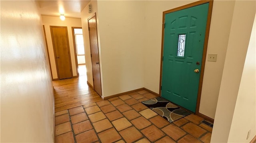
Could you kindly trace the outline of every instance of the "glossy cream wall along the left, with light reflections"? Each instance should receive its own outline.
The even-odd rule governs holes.
[[[1,142],[54,142],[53,87],[34,1],[1,5]]]

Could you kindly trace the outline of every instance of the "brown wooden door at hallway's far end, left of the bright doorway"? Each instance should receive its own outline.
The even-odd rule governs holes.
[[[67,27],[50,26],[59,79],[72,78]]]

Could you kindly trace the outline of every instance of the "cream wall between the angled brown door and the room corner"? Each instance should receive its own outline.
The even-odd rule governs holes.
[[[102,95],[144,87],[144,1],[98,1]]]

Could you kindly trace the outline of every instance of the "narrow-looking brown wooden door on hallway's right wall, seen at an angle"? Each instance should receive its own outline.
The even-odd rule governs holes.
[[[94,90],[101,96],[101,81],[100,81],[100,62],[98,51],[98,37],[96,27],[96,15],[88,19],[90,47],[92,57],[92,72]]]

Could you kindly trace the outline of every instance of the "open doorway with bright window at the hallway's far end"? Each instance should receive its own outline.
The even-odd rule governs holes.
[[[84,37],[82,27],[72,27],[74,51],[76,57],[76,70],[78,76],[86,76]]]

